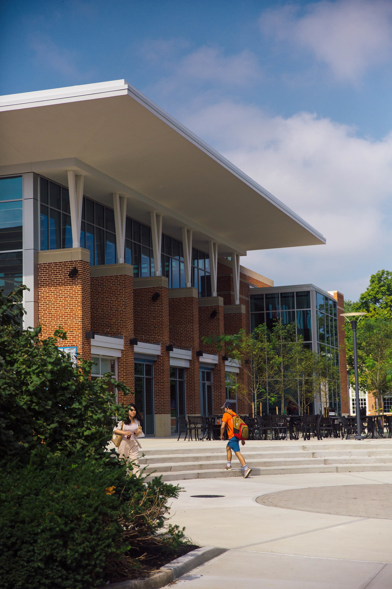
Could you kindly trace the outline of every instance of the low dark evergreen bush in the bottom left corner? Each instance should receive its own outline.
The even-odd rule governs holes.
[[[139,576],[151,541],[174,555],[183,542],[182,531],[165,528],[167,498],[178,493],[83,455],[44,449],[28,465],[3,464],[0,587],[88,589]]]

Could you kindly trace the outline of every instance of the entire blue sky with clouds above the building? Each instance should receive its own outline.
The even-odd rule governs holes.
[[[125,78],[327,246],[251,252],[357,299],[391,269],[392,0],[3,0],[0,93]]]

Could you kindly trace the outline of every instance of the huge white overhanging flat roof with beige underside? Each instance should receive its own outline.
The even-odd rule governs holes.
[[[125,80],[0,97],[0,174],[35,171],[68,186],[85,176],[86,196],[219,255],[325,243],[324,237]]]

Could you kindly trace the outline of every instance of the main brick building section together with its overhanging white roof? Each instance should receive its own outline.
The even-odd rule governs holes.
[[[241,368],[202,338],[249,330],[273,286],[240,256],[323,236],[123,80],[0,113],[0,286],[29,287],[25,326],[129,385],[149,435],[219,412]]]

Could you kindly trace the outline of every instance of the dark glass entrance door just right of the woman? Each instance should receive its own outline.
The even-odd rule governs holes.
[[[154,365],[135,362],[135,405],[143,416],[143,431],[154,434]]]

